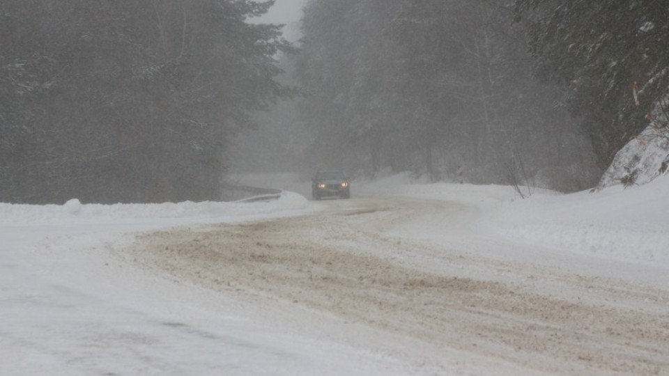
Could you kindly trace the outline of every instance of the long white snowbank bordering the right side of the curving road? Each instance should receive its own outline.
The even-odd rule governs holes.
[[[537,189],[524,200],[512,187],[427,184],[409,174],[359,185],[357,190],[366,195],[397,194],[477,207],[477,219],[470,226],[482,236],[669,266],[669,175],[656,176],[647,185],[615,185],[598,193]]]

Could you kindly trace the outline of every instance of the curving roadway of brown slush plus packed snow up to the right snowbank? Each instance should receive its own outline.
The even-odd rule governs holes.
[[[669,375],[669,287],[648,285],[653,276],[486,236],[462,203],[310,205],[298,217],[144,233],[115,254],[241,301],[255,320],[420,374]]]

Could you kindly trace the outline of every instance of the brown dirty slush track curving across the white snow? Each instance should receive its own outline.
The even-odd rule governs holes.
[[[644,294],[669,301],[667,291],[475,257],[457,250],[461,242],[384,233],[433,214],[434,205],[449,213],[445,223],[466,214],[457,205],[400,198],[333,202],[332,210],[305,217],[147,233],[127,258],[259,306],[287,301],[411,338],[433,354],[456,349],[557,375],[669,375],[668,316],[616,304],[637,293],[639,306]],[[472,267],[503,271],[505,281],[452,273]],[[576,294],[595,288],[611,303],[553,297],[518,282],[537,274]],[[387,346],[403,351],[401,343]]]

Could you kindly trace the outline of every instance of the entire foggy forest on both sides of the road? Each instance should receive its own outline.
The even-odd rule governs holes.
[[[268,166],[574,191],[668,117],[666,1],[310,0],[309,95],[259,116],[295,94],[271,5],[1,1],[0,201],[218,199],[256,122]]]

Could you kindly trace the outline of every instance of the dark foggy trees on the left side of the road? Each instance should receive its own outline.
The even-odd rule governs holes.
[[[248,0],[0,2],[0,201],[220,198],[250,114],[291,90]]]

